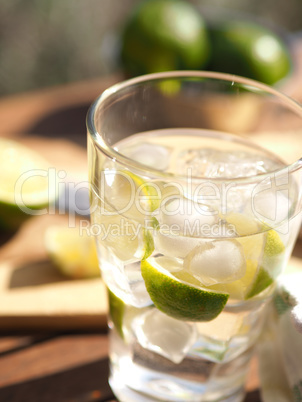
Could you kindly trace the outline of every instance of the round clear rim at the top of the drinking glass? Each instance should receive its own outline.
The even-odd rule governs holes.
[[[110,146],[102,137],[102,134],[98,132],[96,129],[95,123],[94,123],[94,116],[95,113],[98,109],[98,107],[106,101],[109,97],[114,96],[117,94],[120,90],[131,87],[136,84],[144,83],[144,82],[150,82],[150,81],[160,81],[163,79],[182,79],[182,78],[209,78],[217,81],[225,81],[225,82],[236,82],[239,84],[246,85],[249,87],[249,89],[254,88],[254,90],[261,90],[263,92],[266,92],[267,94],[273,95],[276,98],[282,100],[288,105],[288,108],[291,109],[292,111],[295,111],[298,115],[300,115],[302,119],[302,105],[297,102],[296,100],[290,98],[289,96],[285,95],[281,91],[263,84],[261,82],[258,82],[256,80],[250,79],[250,78],[245,78],[241,77],[235,74],[226,74],[226,73],[220,73],[220,72],[211,72],[211,71],[190,71],[190,70],[180,70],[180,71],[166,71],[166,72],[159,72],[159,73],[153,73],[153,74],[145,74],[141,75],[135,78],[130,78],[126,79],[124,81],[118,82],[107,89],[105,89],[97,98],[96,100],[91,104],[89,107],[89,110],[87,112],[86,116],[86,126],[88,130],[88,134],[90,138],[92,139],[93,143],[95,146],[101,151],[103,154],[105,154],[107,157],[110,159],[118,162],[122,166],[131,169],[135,169],[136,171],[140,171],[146,176],[152,176],[155,178],[166,178],[166,179],[176,179],[176,180],[187,180],[188,175],[180,175],[172,172],[162,172],[158,169],[149,167],[147,165],[144,165],[140,162],[137,162],[131,158],[128,158],[127,156],[123,155],[122,153],[118,152],[116,149],[114,149],[114,145]],[[217,131],[218,133],[218,131]],[[233,137],[237,143],[242,142],[246,143],[248,141],[248,138],[246,137],[240,137],[232,133],[225,133],[221,132],[221,134],[227,134],[228,136]],[[274,154],[267,148],[264,148],[262,146],[259,146],[255,143],[252,143],[253,147],[255,149],[259,150],[264,150],[265,152]],[[275,154],[274,154],[275,155]],[[276,155],[278,156],[278,155]],[[253,182],[253,181],[259,181],[265,180],[266,177],[270,177],[272,174],[282,174],[284,173],[294,173],[295,171],[301,169],[302,167],[302,156],[298,160],[294,161],[291,164],[285,165],[281,167],[280,169],[270,171],[270,172],[265,172],[257,175],[251,175],[251,176],[243,176],[243,177],[206,177],[206,176],[190,176],[190,180],[192,182],[195,181],[213,181],[213,182],[232,182],[232,181],[238,181],[238,182]]]

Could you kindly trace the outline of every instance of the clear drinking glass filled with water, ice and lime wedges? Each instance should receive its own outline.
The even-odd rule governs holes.
[[[300,228],[301,107],[242,77],[167,72],[88,118],[91,232],[120,401],[242,401]]]

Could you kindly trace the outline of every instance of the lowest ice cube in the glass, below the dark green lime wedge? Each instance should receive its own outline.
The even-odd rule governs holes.
[[[132,327],[143,348],[175,364],[186,357],[197,339],[194,324],[175,320],[155,308],[134,320]]]

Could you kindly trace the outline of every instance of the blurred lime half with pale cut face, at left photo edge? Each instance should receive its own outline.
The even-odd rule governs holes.
[[[18,142],[0,139],[0,227],[15,230],[55,200],[49,163]]]

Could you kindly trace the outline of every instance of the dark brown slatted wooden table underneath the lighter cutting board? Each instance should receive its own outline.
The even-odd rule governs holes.
[[[120,78],[106,77],[0,99],[1,135],[21,140],[29,135],[66,138],[85,147],[89,104]],[[2,249],[9,240],[1,235]],[[295,250],[301,256],[301,244]],[[115,401],[107,383],[107,332],[103,326],[92,327],[26,328],[23,323],[22,328],[0,328],[0,401]],[[254,359],[245,402],[261,400],[258,386]]]

